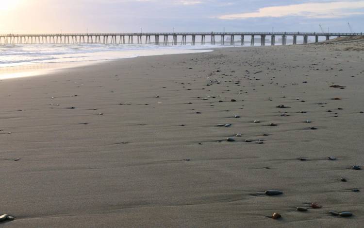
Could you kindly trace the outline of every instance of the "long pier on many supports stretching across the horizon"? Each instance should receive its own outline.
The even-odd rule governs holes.
[[[303,37],[303,44],[308,43],[308,37],[314,37],[318,42],[318,37],[323,36],[326,40],[330,37],[355,36],[362,33],[86,33],[86,34],[6,34],[0,35],[0,44],[155,44],[155,45],[187,45],[206,44],[206,36],[210,38],[210,44],[215,45],[216,36],[221,39],[221,45],[235,45],[235,36],[240,37],[240,44],[245,45],[245,36],[250,36],[250,45],[254,46],[254,37],[260,36],[261,46],[265,46],[265,37],[270,36],[271,45],[275,45],[276,36],[281,37],[281,45],[287,44],[287,37],[293,37],[292,44],[297,44],[297,37]],[[150,37],[154,37],[151,41]],[[163,43],[160,40],[163,37]],[[169,37],[171,41],[169,42]],[[199,41],[198,41],[199,38]],[[226,38],[230,38],[229,43],[225,43]]]

